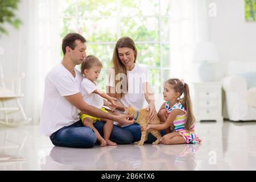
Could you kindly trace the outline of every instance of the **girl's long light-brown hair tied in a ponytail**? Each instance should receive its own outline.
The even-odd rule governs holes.
[[[191,98],[189,95],[189,86],[183,80],[179,80],[177,78],[172,78],[166,81],[166,83],[172,85],[174,87],[175,92],[179,92],[179,97],[183,94],[183,98],[179,99],[179,102],[185,107],[187,110],[187,121],[185,122],[185,130],[191,131],[191,126],[195,123],[195,117],[192,111]]]

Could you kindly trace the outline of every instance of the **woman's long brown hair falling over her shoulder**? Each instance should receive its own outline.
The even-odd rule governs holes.
[[[134,50],[134,63],[137,59],[137,48],[133,39],[129,37],[120,38],[115,44],[113,57],[111,60],[112,68],[114,69],[115,76],[112,77],[115,83],[115,93],[117,93],[117,98],[121,99],[128,91],[128,81],[127,81],[127,71],[125,65],[122,64],[118,56],[118,48],[128,47]],[[122,76],[123,75],[123,76]],[[111,76],[110,76],[111,77]],[[109,77],[109,79],[110,79]],[[119,78],[120,77],[120,78]],[[111,82],[111,81],[110,81]]]

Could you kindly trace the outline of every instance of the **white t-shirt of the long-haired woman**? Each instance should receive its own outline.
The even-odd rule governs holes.
[[[114,82],[114,69],[109,70],[109,81],[106,82],[106,86],[115,86]],[[124,106],[132,105],[135,109],[142,109],[144,105],[144,91],[143,84],[148,82],[147,68],[143,65],[135,64],[135,67],[131,71],[127,71],[128,91],[121,100],[117,99]],[[120,111],[121,112],[121,111]],[[121,112],[123,114],[123,112]],[[123,125],[127,126],[127,125]]]

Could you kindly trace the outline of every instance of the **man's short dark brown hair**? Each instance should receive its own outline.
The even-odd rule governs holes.
[[[82,43],[86,42],[85,38],[82,35],[77,34],[77,33],[69,33],[63,38],[62,51],[63,51],[64,55],[66,53],[67,46],[70,47],[72,50],[75,49],[75,47],[76,47],[75,41],[76,40],[80,40]]]

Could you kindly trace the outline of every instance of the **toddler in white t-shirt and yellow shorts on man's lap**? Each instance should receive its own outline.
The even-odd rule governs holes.
[[[116,98],[110,97],[108,94],[102,92],[102,90],[99,88],[98,83],[95,82],[100,75],[100,71],[102,68],[101,61],[97,59],[95,56],[87,56],[84,61],[82,61],[81,64],[81,73],[84,75],[84,79],[81,82],[81,93],[82,98],[84,98],[84,101],[88,103],[89,105],[95,106],[106,113],[108,111],[105,110],[103,107],[108,106],[110,109],[115,109],[118,105],[115,103]],[[106,100],[104,100],[105,98]],[[115,146],[116,143],[109,140],[110,134],[113,129],[113,121],[110,121],[109,119],[101,119],[96,118],[88,114],[81,114],[80,118],[82,120],[82,123],[84,126],[90,127],[93,129],[94,133],[96,134],[98,142],[100,142],[101,147],[110,145]],[[96,121],[105,121],[105,125],[103,128],[104,138],[101,137],[100,133],[97,131],[97,129],[93,126],[93,123]]]

